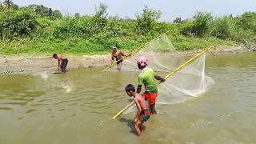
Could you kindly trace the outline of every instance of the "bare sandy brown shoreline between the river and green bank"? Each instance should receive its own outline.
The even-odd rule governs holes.
[[[202,50],[163,53],[168,56],[186,57],[197,54]],[[207,54],[239,54],[247,51],[256,51],[254,46],[218,46],[207,52]],[[108,66],[110,54],[102,55],[65,55],[69,59],[67,70],[77,68],[91,68]],[[52,56],[8,56],[0,55],[0,75],[6,74],[34,74],[43,71],[57,70],[58,62]]]

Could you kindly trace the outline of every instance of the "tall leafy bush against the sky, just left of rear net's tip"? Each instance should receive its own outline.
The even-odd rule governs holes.
[[[142,14],[137,14],[136,31],[138,34],[147,34],[150,30],[153,30],[155,23],[161,18],[161,12],[159,10],[153,10],[144,7]]]

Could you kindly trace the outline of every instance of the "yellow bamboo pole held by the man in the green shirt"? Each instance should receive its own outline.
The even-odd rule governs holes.
[[[169,78],[170,76],[172,76],[173,74],[177,73],[179,70],[182,70],[185,66],[189,65],[191,62],[194,62],[195,60],[197,60],[202,54],[205,54],[206,51],[210,50],[211,48],[213,48],[214,46],[209,46],[208,48],[206,48],[206,50],[203,50],[201,53],[195,55],[193,58],[190,58],[190,60],[186,61],[185,63],[183,63],[181,66],[178,66],[177,69],[173,70],[172,72],[170,72],[169,74],[166,75],[165,79]],[[157,86],[159,86],[160,83],[158,83]],[[121,115],[125,110],[127,110],[130,106],[132,106],[134,104],[133,102],[130,102],[126,107],[124,107],[122,110],[120,110],[117,114],[114,115],[114,118],[118,118],[119,115]]]

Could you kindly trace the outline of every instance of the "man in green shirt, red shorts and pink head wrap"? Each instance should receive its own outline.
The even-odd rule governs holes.
[[[150,67],[147,67],[147,59],[144,57],[140,57],[137,59],[138,69],[142,70],[138,76],[138,88],[137,93],[139,94],[142,90],[142,84],[145,86],[145,92],[142,94],[150,105],[150,111],[152,114],[157,114],[154,109],[155,101],[158,96],[158,87],[154,83],[154,78],[160,82],[165,82],[164,78],[158,76],[154,70]]]

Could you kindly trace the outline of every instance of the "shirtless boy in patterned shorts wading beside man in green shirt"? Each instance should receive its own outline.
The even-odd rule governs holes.
[[[146,101],[142,95],[135,92],[133,85],[127,85],[125,90],[130,97],[134,97],[134,102],[137,106],[137,114],[134,118],[134,129],[138,136],[141,136],[143,130],[142,124],[150,118],[150,110],[148,106],[146,106]]]

